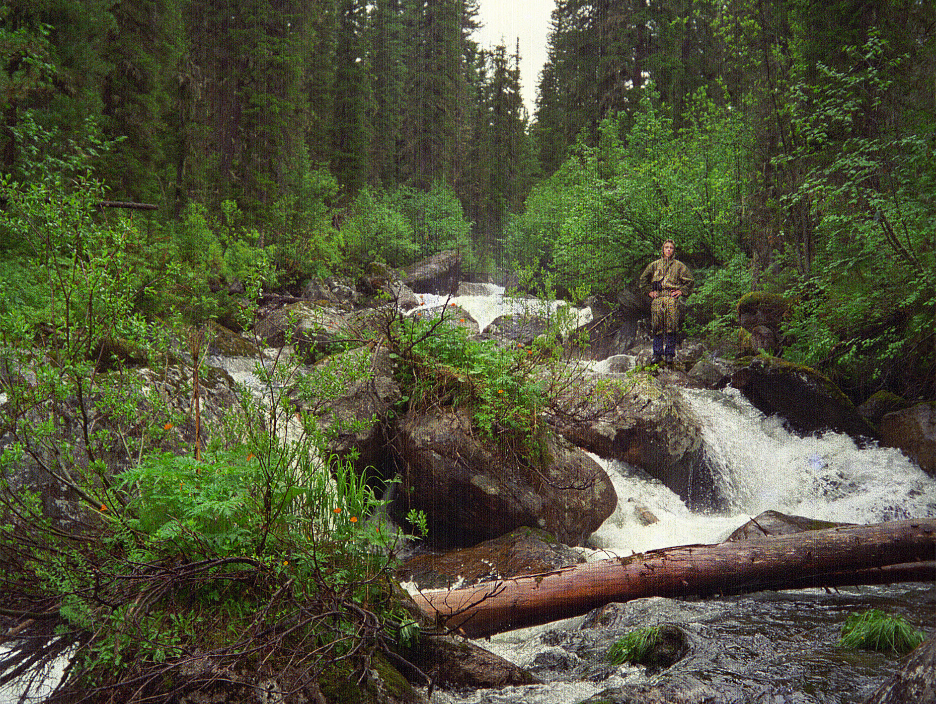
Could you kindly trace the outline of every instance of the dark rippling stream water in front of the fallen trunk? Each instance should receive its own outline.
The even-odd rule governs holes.
[[[573,621],[536,633],[520,648],[519,664],[551,691],[579,682],[591,686],[593,694],[563,699],[543,688],[507,688],[496,698],[477,692],[459,701],[860,704],[882,680],[899,672],[903,658],[842,649],[837,644],[841,625],[852,613],[878,608],[931,630],[936,613],[928,587],[764,592],[704,601],[652,597],[609,604],[578,625]],[[607,661],[607,650],[616,640],[653,625],[673,626],[685,634],[685,651],[674,664],[614,666]],[[521,641],[519,634],[513,641]],[[498,651],[497,643],[491,648]]]

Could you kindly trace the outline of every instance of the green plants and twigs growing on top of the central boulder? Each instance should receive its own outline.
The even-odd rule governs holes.
[[[467,409],[481,437],[539,466],[545,459],[545,416],[568,418],[587,412],[596,420],[607,412],[602,405],[606,392],[617,387],[597,384],[593,406],[579,408],[574,390],[586,372],[576,359],[587,339],[572,335],[578,318],[571,306],[556,301],[552,278],[542,272],[534,276],[532,269],[518,273],[521,285],[537,293],[509,298],[513,323],[530,331],[530,342],[473,338],[456,322],[460,313],[454,303],[393,319],[388,339],[407,409],[440,403]],[[539,290],[534,279],[541,281]],[[577,299],[584,295],[584,288],[573,292]]]

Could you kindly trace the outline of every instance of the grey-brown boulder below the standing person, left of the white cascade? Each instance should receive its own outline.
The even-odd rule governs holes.
[[[718,508],[702,424],[674,386],[649,374],[583,375],[569,384],[550,423],[578,447],[640,467],[697,510]]]

